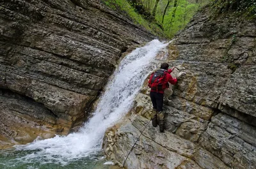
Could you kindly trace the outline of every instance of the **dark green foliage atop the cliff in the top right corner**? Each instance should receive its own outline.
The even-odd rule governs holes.
[[[232,11],[248,18],[256,18],[256,0],[211,0],[211,8],[215,15]]]

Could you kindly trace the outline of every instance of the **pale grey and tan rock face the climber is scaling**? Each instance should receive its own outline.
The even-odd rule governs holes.
[[[256,168],[256,22],[195,15],[168,46],[186,76],[164,101],[164,133],[150,122],[147,80],[104,150],[127,168]]]

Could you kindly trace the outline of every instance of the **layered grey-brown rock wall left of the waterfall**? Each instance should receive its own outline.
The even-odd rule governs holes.
[[[0,4],[0,147],[67,134],[122,52],[154,38],[100,1]]]

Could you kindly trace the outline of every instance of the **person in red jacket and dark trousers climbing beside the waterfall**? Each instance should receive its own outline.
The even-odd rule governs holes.
[[[150,90],[150,98],[153,104],[153,112],[151,115],[152,125],[157,127],[159,124],[159,130],[162,133],[164,131],[164,114],[163,114],[163,99],[164,89],[168,87],[168,82],[175,85],[177,78],[173,78],[173,68],[168,70],[169,64],[164,62],[161,64],[160,70],[155,71],[148,80],[148,87]]]

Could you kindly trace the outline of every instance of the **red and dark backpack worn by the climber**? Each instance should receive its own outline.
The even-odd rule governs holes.
[[[165,70],[157,70],[151,74],[148,80],[148,87],[153,91],[164,91],[166,89],[166,84],[163,84],[166,74],[168,72]]]

